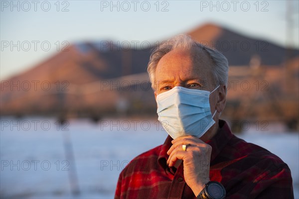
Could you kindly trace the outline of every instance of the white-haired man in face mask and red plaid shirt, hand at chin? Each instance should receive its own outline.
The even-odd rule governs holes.
[[[179,35],[152,52],[148,72],[169,136],[121,172],[116,199],[294,198],[288,165],[219,119],[228,78],[219,51]]]

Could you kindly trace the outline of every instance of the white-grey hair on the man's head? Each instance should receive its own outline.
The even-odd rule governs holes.
[[[214,81],[216,81],[218,85],[227,86],[228,61],[224,57],[224,55],[218,50],[211,49],[207,46],[200,44],[197,41],[192,40],[189,35],[180,34],[178,36],[170,38],[167,41],[162,42],[151,52],[151,55],[149,57],[149,64],[148,64],[148,73],[149,73],[149,80],[151,83],[151,87],[153,88],[153,90],[154,90],[153,84],[155,81],[155,70],[157,64],[166,53],[174,49],[194,50],[196,48],[204,50],[211,58],[212,60],[211,73],[213,75]]]

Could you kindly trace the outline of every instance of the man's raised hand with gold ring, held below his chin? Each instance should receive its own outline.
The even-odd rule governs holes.
[[[184,179],[197,196],[204,185],[210,181],[212,147],[192,135],[178,137],[171,142],[172,146],[167,151],[169,155],[167,164],[171,167],[178,159],[183,161]],[[182,145],[187,145],[186,151],[183,151]]]

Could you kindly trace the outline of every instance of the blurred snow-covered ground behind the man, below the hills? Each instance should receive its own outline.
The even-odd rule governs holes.
[[[167,136],[158,121],[137,118],[59,124],[54,118],[2,117],[0,124],[1,199],[113,198],[122,169]],[[289,165],[299,199],[299,134],[248,131],[239,137]],[[80,194],[72,195],[76,182]]]

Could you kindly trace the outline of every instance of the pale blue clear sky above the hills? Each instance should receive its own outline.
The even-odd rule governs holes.
[[[283,0],[0,0],[0,80],[34,67],[63,44],[154,43],[206,22],[299,48],[299,1],[289,3],[291,36]]]

